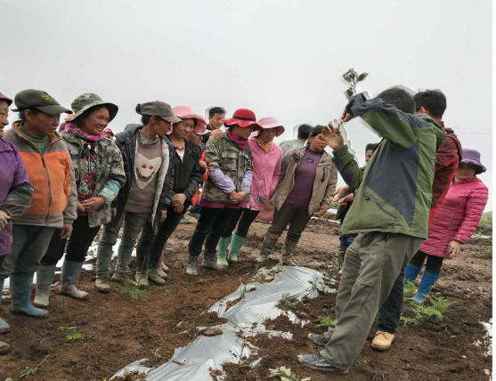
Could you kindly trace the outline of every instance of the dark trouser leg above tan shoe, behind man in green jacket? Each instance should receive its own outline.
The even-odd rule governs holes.
[[[393,290],[379,311],[378,330],[396,335],[402,319],[404,300],[404,269],[394,283]]]

